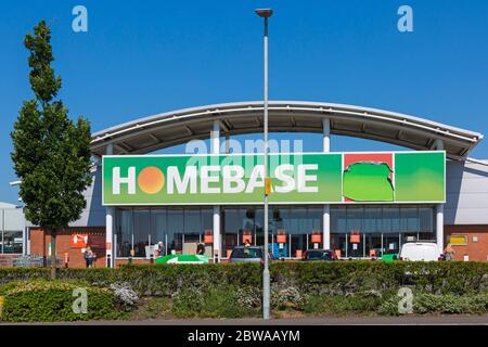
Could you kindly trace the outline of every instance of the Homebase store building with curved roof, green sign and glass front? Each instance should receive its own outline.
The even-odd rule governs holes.
[[[383,110],[279,101],[270,102],[269,130],[300,132],[305,141],[306,133],[319,133],[323,140],[313,153],[273,153],[269,241],[277,257],[298,259],[306,249],[330,248],[343,258],[377,258],[398,253],[408,241],[444,247],[452,239],[459,243],[457,259],[467,254],[470,260],[488,260],[488,166],[468,157],[481,134]],[[94,183],[73,230],[84,233],[86,228],[90,234],[88,228],[103,228],[100,259],[111,267],[129,258],[150,261],[159,242],[166,253],[193,253],[204,243],[216,261],[224,261],[245,241],[262,245],[260,154],[229,150],[232,137],[261,131],[262,103],[242,102],[168,112],[93,133]],[[406,151],[331,152],[331,134]],[[152,154],[195,140],[209,140],[208,153]],[[224,168],[235,164],[235,156],[242,177],[241,169]],[[208,163],[187,172],[202,157]],[[252,165],[246,157],[254,158]],[[278,165],[285,167],[277,175]],[[286,165],[294,168],[286,171]],[[169,166],[175,167],[170,172]]]

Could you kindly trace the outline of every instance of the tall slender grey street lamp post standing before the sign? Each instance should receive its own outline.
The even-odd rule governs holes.
[[[264,130],[265,130],[265,270],[262,271],[262,318],[269,319],[270,279],[269,279],[269,250],[268,250],[268,194],[270,181],[268,178],[268,18],[273,14],[271,9],[258,9],[256,14],[265,18],[265,88],[264,88]]]

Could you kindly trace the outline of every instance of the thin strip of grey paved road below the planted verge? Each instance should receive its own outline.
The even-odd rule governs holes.
[[[30,323],[33,324],[33,323]],[[40,323],[48,324],[48,323]],[[190,319],[190,320],[141,320],[141,321],[89,321],[62,322],[56,324],[77,325],[488,325],[488,314],[484,316],[407,316],[407,317],[307,317],[293,319]]]

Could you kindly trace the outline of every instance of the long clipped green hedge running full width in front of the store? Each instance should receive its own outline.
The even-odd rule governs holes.
[[[419,293],[488,293],[488,262],[475,261],[295,261],[273,262],[271,284],[295,286],[310,294],[380,293],[410,286]],[[14,280],[49,279],[47,268],[0,268],[0,284]],[[59,269],[60,279],[95,285],[127,282],[140,295],[171,296],[181,288],[261,286],[261,266],[132,265],[117,269]]]

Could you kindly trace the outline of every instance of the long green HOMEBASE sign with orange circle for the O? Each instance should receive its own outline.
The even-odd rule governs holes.
[[[261,204],[262,154],[106,155],[103,205]],[[444,203],[446,154],[269,155],[273,204]]]

